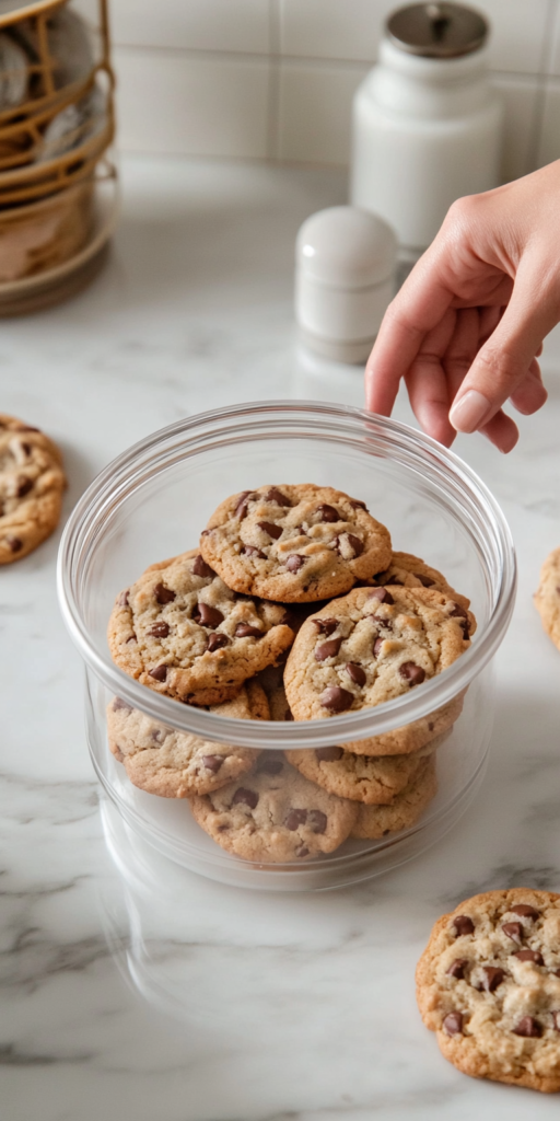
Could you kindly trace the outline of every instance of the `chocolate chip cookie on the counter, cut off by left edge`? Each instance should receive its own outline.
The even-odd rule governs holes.
[[[0,564],[27,556],[56,529],[66,479],[56,444],[0,414]]]

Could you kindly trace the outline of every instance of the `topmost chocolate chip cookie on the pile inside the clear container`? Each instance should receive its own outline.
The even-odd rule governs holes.
[[[283,603],[332,599],[386,568],[391,538],[332,487],[260,487],[218,506],[200,553],[228,587]]]

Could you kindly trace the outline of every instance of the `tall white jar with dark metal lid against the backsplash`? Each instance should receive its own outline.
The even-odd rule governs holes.
[[[498,184],[502,105],[487,35],[472,8],[400,8],[356,91],[351,200],[391,223],[401,259],[429,245],[456,198]]]

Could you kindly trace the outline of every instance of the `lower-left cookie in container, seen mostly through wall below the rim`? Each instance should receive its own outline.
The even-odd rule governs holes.
[[[208,712],[236,720],[269,720],[261,686],[246,682],[233,701],[212,705]],[[108,706],[109,747],[124,763],[133,786],[160,798],[208,794],[250,770],[259,751],[203,740],[151,720],[120,697]]]

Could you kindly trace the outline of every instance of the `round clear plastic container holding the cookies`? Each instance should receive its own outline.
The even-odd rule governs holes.
[[[468,595],[478,628],[470,648],[421,688],[373,708],[293,723],[226,720],[152,692],[111,660],[105,633],[115,594],[153,562],[196,547],[227,494],[267,483],[314,482],[367,503],[393,547],[440,568]],[[100,782],[127,826],[178,864],[228,884],[309,890],[356,882],[418,855],[452,828],[485,771],[494,707],[492,658],[515,595],[505,519],[485,485],[451,452],[394,420],[360,409],[265,401],[205,413],[137,444],[97,476],[63,537],[63,614],[86,667],[86,730]],[[122,698],[168,728],[237,745],[310,751],[409,725],[464,697],[437,752],[438,794],[408,830],[346,841],[299,863],[253,864],[207,836],[185,799],[132,786],[109,750],[106,707]]]

